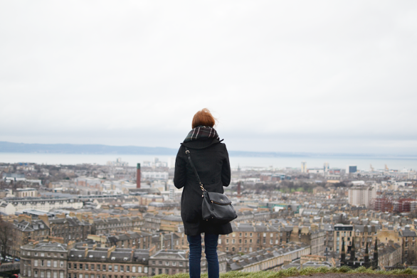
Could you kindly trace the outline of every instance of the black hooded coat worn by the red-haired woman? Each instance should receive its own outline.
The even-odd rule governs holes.
[[[231,224],[210,224],[201,217],[202,191],[196,175],[185,154],[190,151],[191,160],[199,173],[206,191],[223,193],[223,186],[231,182],[231,166],[226,145],[218,139],[197,139],[181,143],[176,154],[174,185],[184,188],[181,196],[181,218],[186,235],[200,235],[201,232],[227,235],[233,232]]]

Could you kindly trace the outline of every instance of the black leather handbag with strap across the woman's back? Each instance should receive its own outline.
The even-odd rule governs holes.
[[[238,218],[235,209],[233,208],[232,202],[222,193],[209,192],[204,189],[203,183],[201,183],[199,173],[197,173],[196,167],[191,160],[189,149],[185,148],[186,156],[189,159],[191,168],[196,174],[197,181],[203,194],[203,201],[201,203],[202,217],[203,220],[209,221],[210,223],[226,224]]]

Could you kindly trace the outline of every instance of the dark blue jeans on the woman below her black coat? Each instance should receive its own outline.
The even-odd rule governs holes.
[[[201,235],[187,235],[190,245],[189,272],[190,278],[200,278],[201,273]],[[209,278],[218,278],[218,257],[217,257],[218,235],[205,234],[204,245],[207,260]]]

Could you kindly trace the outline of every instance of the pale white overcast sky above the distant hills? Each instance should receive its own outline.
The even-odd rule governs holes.
[[[417,154],[417,1],[0,1],[0,141]]]

